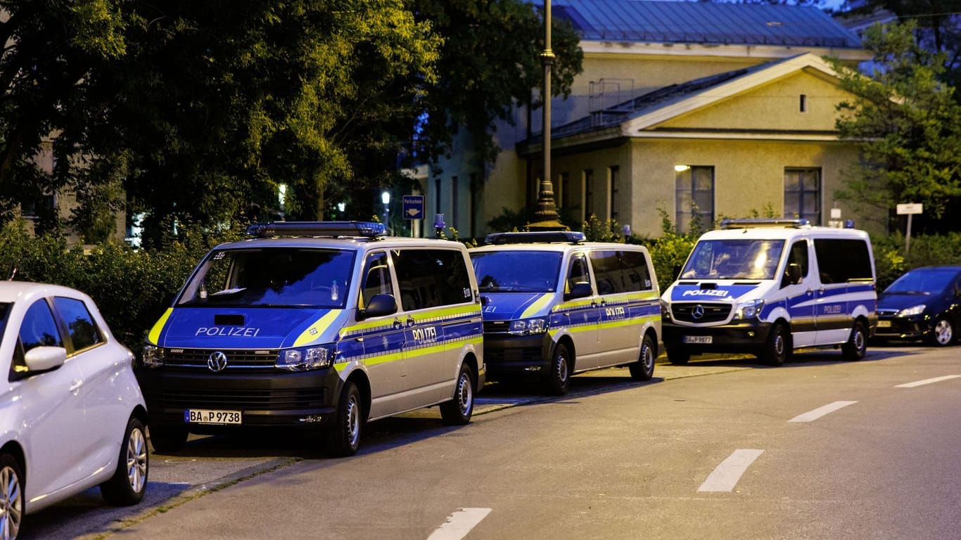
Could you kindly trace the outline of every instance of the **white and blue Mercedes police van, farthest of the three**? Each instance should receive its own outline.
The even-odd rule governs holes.
[[[857,360],[876,304],[868,233],[803,219],[725,220],[702,234],[664,292],[664,347],[675,364],[748,353],[780,365],[804,347],[840,347]]]

